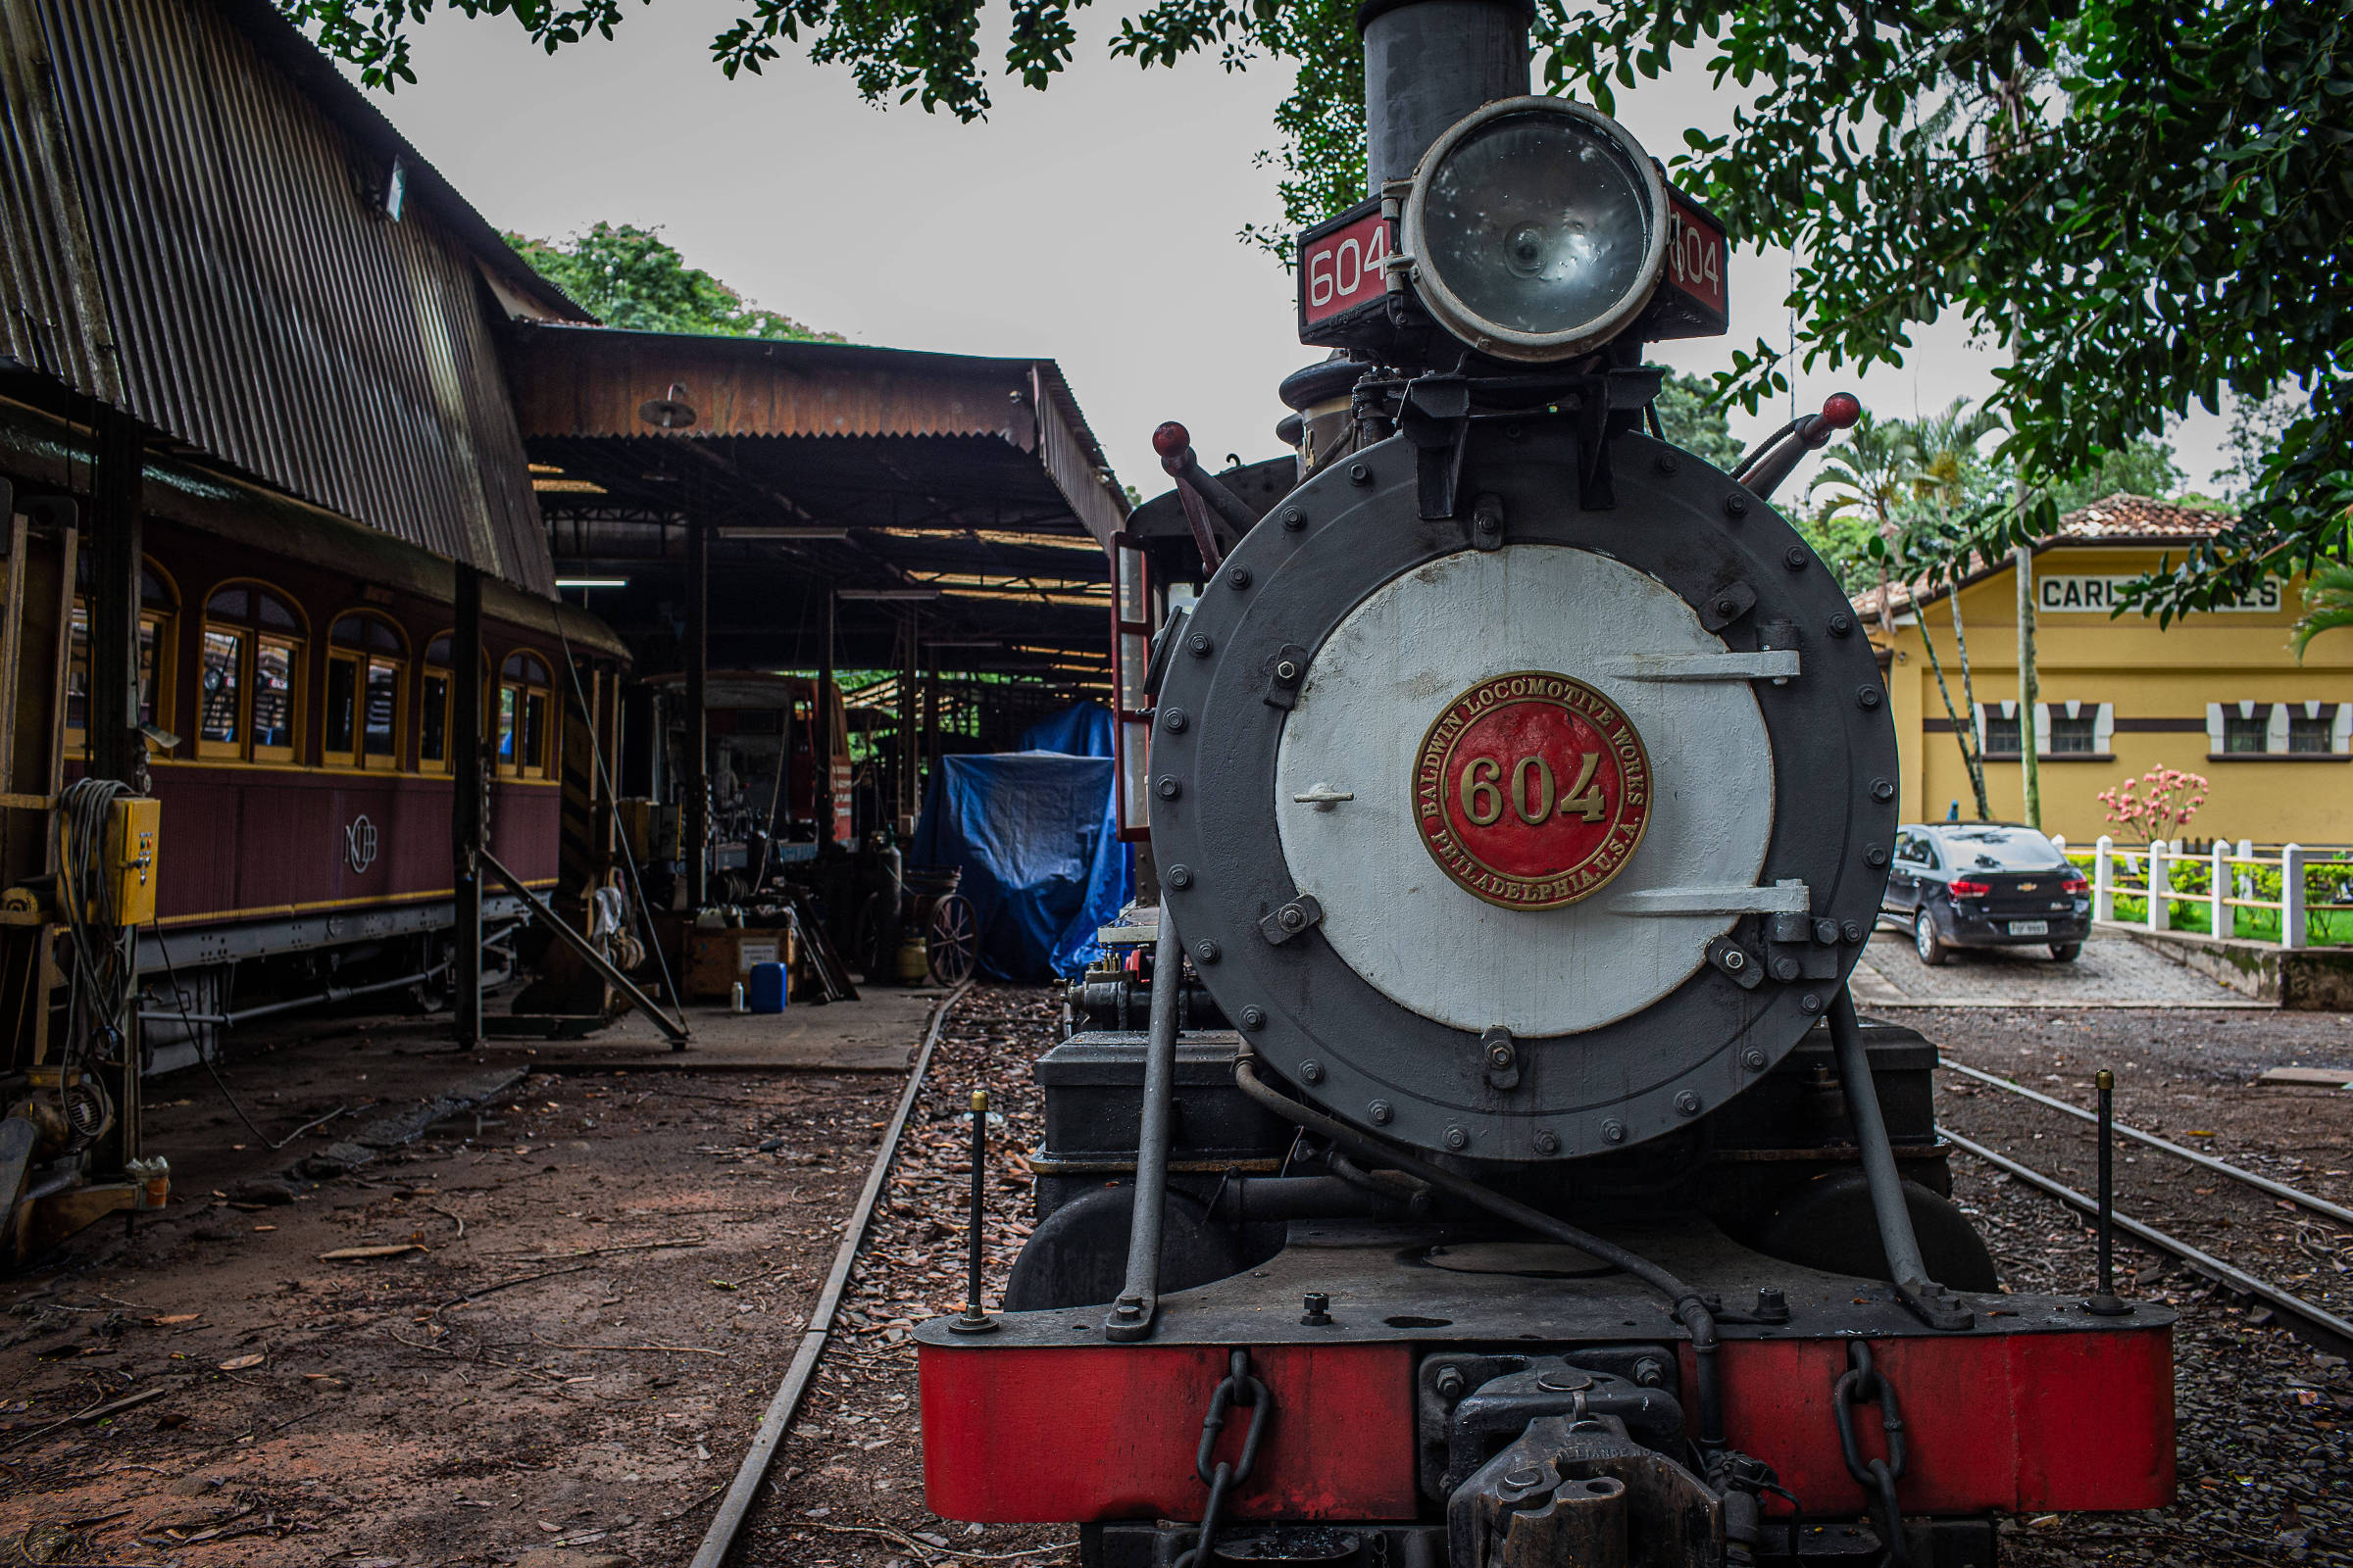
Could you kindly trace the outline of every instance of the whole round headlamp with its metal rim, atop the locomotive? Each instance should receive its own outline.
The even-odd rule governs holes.
[[[1501,360],[1565,360],[1649,303],[1666,268],[1666,183],[1609,115],[1504,99],[1424,153],[1402,244],[1440,327]]]

